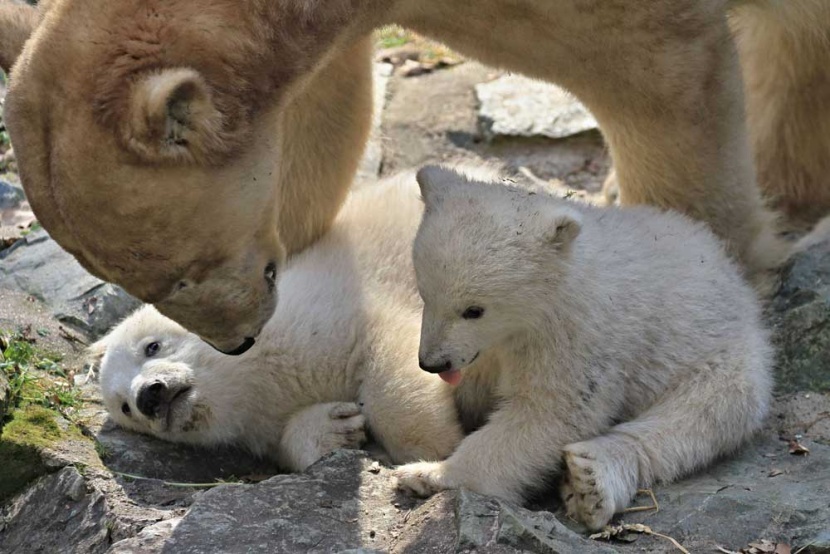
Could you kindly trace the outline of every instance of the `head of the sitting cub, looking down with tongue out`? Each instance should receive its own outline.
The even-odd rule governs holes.
[[[419,362],[447,382],[482,352],[527,331],[567,272],[579,214],[527,191],[427,167],[413,250],[424,300]]]

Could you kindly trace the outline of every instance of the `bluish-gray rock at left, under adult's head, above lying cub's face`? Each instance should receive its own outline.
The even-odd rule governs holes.
[[[141,303],[93,277],[44,230],[0,253],[0,288],[46,303],[62,322],[97,338]]]

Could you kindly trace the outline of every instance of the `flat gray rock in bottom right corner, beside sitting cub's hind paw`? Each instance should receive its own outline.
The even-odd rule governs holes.
[[[624,519],[672,536],[691,552],[712,552],[717,546],[737,551],[760,539],[785,542],[795,551],[830,522],[830,447],[805,446],[809,456],[791,455],[786,442],[768,432],[735,458],[655,487],[658,513],[631,513]],[[644,498],[641,504],[650,504]],[[659,538],[644,537],[637,545],[645,542],[672,551]]]

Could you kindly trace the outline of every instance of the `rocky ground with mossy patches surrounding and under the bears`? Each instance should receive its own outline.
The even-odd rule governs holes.
[[[405,35],[385,40],[361,182],[472,161],[598,200],[609,162],[578,104]],[[0,171],[14,170],[8,148],[0,134]],[[280,475],[243,452],[115,428],[84,348],[137,302],[38,229],[5,173],[0,552],[830,552],[830,242],[796,256],[781,282],[768,309],[780,359],[767,428],[737,456],[655,487],[659,510],[643,494],[646,509],[596,540],[553,501],[530,510],[467,491],[402,497],[362,452]]]

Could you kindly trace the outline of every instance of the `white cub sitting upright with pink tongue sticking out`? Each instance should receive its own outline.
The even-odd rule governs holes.
[[[420,364],[457,385],[462,408],[491,395],[492,412],[446,461],[400,467],[402,489],[519,502],[564,459],[566,509],[597,529],[638,488],[761,426],[772,353],[760,306],[703,224],[437,167],[418,180]],[[498,363],[468,367],[480,355]]]

